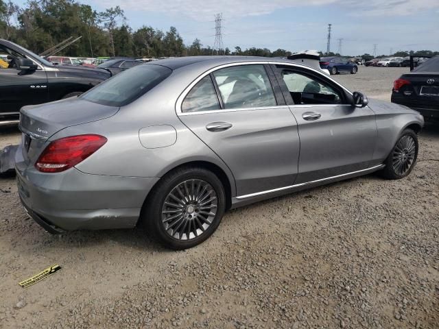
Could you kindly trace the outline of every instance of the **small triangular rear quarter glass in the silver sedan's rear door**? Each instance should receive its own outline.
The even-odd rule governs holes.
[[[210,75],[203,77],[187,94],[182,103],[182,112],[219,110],[219,101]]]

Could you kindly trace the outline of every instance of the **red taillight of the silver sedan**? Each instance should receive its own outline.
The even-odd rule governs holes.
[[[35,167],[43,173],[59,173],[88,158],[106,142],[107,138],[94,134],[57,139],[45,148]]]

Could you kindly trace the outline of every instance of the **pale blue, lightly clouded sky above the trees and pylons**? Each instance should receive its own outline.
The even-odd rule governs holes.
[[[21,2],[24,0],[19,0]],[[388,55],[399,50],[439,50],[439,0],[80,0],[96,10],[119,5],[128,25],[177,28],[186,45],[215,42],[215,14],[222,12],[222,41],[231,50],[331,51]]]

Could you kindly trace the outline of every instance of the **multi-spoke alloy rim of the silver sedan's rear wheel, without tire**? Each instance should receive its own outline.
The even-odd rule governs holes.
[[[174,188],[162,206],[162,223],[167,234],[191,240],[204,234],[217,213],[217,193],[204,180],[186,180]]]

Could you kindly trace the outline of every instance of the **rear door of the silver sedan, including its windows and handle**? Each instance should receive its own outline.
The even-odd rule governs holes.
[[[177,105],[180,120],[233,172],[238,196],[290,186],[297,175],[296,120],[276,98],[274,90],[280,90],[270,83],[267,68],[216,69],[195,80]]]

